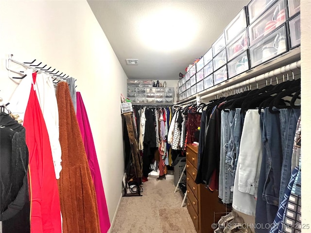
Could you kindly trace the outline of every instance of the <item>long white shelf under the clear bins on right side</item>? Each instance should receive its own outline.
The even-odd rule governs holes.
[[[232,85],[237,84],[237,83],[242,83],[245,80],[254,78],[256,76],[259,76],[260,74],[264,74],[264,73],[272,71],[276,68],[297,62],[299,60],[300,60],[300,46],[293,49],[293,50],[290,50],[290,51],[284,53],[281,56],[276,57],[275,59],[273,59],[271,61],[268,61],[262,65],[259,65],[258,67],[247,70],[244,73],[242,73],[242,74],[240,74],[234,78],[228,79],[223,83],[220,83],[216,86],[208,88],[207,90],[204,90],[200,93],[197,93],[196,95],[191,96],[185,100],[179,101],[179,102],[177,102],[177,104],[195,101],[197,96],[199,96],[199,97],[207,96],[208,94],[222,90],[225,87],[232,86]]]

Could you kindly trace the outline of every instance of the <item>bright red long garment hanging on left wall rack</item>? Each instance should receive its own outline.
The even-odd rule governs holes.
[[[35,83],[36,73],[33,73]],[[23,126],[29,150],[31,233],[61,233],[60,203],[51,145],[41,108],[31,86]]]

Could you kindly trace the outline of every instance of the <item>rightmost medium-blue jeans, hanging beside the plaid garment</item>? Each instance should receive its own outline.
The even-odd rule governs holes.
[[[300,116],[300,109],[280,109],[281,143],[283,163],[281,171],[281,186],[279,203],[283,200],[286,187],[291,179],[292,154],[296,125]]]

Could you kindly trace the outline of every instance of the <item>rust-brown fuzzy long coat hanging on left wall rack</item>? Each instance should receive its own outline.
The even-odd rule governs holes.
[[[100,233],[94,184],[68,84],[57,85],[62,171],[58,180],[63,233]]]

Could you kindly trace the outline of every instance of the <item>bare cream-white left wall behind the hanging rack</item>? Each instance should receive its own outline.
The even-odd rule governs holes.
[[[0,0],[0,97],[16,84],[5,59],[37,59],[77,79],[94,136],[110,221],[121,197],[123,147],[120,93],[126,93],[121,65],[86,0]]]

